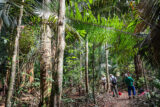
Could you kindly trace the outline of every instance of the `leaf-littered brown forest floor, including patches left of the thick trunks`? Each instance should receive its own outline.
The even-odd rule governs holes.
[[[148,105],[144,105],[144,103],[139,103],[143,101],[142,97],[136,96],[134,99],[129,99],[127,91],[121,91],[121,93],[118,98],[113,97],[112,93],[96,94],[96,104],[94,104],[93,100],[89,100],[89,103],[86,103],[86,97],[79,96],[78,92],[76,92],[66,97],[69,102],[63,100],[62,107],[149,107]],[[30,100],[24,101],[24,98]],[[26,107],[37,107],[38,102],[33,102],[33,99],[36,99],[36,97],[31,96],[31,98],[28,98],[28,96],[23,96],[23,99],[20,100],[24,102],[17,105],[17,107],[21,107],[22,104],[27,104],[27,102]],[[5,107],[4,100],[0,102],[0,107]]]

